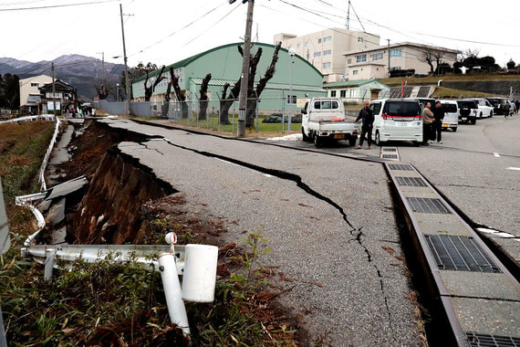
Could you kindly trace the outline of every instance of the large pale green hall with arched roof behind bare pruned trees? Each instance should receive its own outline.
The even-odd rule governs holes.
[[[169,68],[172,67],[175,76],[179,78],[180,89],[185,91],[187,101],[193,103],[199,100],[203,78],[208,73],[211,73],[212,79],[209,81],[207,95],[210,100],[210,105],[218,105],[218,100],[222,99],[224,84],[229,83],[230,85],[230,88],[227,90],[227,94],[229,95],[230,89],[233,88],[234,83],[240,78],[242,72],[242,55],[238,51],[238,46],[240,46],[240,44],[235,43],[215,47],[166,67],[162,73],[165,79],[154,89],[151,95],[151,101],[162,102],[164,100],[170,81]],[[256,68],[255,84],[265,75],[265,70],[271,64],[276,48],[269,44],[253,43],[251,56],[255,56],[255,53],[260,47],[262,47],[263,53]],[[296,99],[326,95],[325,90],[322,89],[323,75],[317,68],[309,64],[307,60],[299,56],[294,56],[291,84],[292,60],[293,58],[289,56],[288,51],[285,48],[280,48],[275,75],[267,82],[264,91],[260,95],[258,108],[261,113],[285,109],[291,85],[293,102],[296,102]],[[159,73],[160,70],[155,70],[149,74],[149,86],[158,78],[157,75],[159,75]],[[146,76],[143,76],[132,83],[134,101],[144,101],[145,79]],[[173,96],[173,89],[171,93]],[[238,95],[235,95],[234,99],[238,99]],[[175,100],[175,98],[172,97],[171,100]],[[213,103],[212,101],[215,102]],[[293,110],[296,110],[296,105],[293,105]]]

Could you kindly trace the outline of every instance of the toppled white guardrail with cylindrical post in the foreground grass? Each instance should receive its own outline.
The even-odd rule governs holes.
[[[170,321],[190,333],[184,301],[213,302],[216,282],[218,247],[209,245],[178,245],[174,233],[165,237],[170,245],[36,245],[27,240],[21,248],[23,258],[33,258],[45,265],[44,279],[52,280],[54,268],[70,268],[72,262],[82,259],[93,264],[109,258],[124,262],[130,258],[144,264],[151,271],[160,271]],[[151,258],[158,255],[157,260]],[[69,263],[69,264],[67,264]],[[177,275],[177,276],[175,276]],[[179,276],[182,276],[182,286]]]

